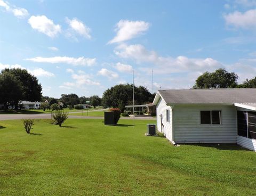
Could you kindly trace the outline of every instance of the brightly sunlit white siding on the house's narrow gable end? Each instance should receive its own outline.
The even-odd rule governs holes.
[[[170,123],[166,121],[166,110],[170,110]],[[162,129],[165,136],[168,138],[168,140],[173,141],[172,138],[172,108],[169,105],[166,105],[166,102],[161,98],[159,99],[157,105],[156,105],[156,116],[157,116],[157,130],[161,132],[161,117],[160,115],[163,115],[162,123],[164,124],[164,127]]]

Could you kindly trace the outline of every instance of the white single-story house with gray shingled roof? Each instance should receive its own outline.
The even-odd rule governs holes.
[[[159,90],[157,129],[175,143],[236,143],[256,151],[256,88]]]

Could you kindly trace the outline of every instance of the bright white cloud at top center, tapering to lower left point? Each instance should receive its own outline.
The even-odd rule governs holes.
[[[143,32],[147,31],[148,28],[149,23],[145,21],[120,20],[116,24],[116,36],[111,39],[108,44],[124,42],[126,40],[132,39],[140,34],[143,34]]]

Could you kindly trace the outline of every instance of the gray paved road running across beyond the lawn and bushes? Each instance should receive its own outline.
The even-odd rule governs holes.
[[[68,118],[79,119],[104,119],[104,117],[87,117],[87,116],[68,116]],[[16,119],[51,119],[50,113],[40,113],[36,115],[0,115],[0,120],[16,120]],[[133,117],[121,117],[121,119],[133,119]],[[155,120],[153,117],[135,117],[135,120]]]

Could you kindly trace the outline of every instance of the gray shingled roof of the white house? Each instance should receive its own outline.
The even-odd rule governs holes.
[[[158,91],[166,103],[256,103],[256,88]]]

